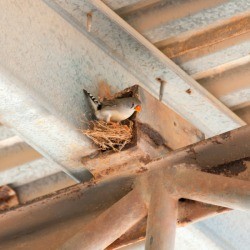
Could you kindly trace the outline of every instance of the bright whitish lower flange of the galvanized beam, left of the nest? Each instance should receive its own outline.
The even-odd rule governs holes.
[[[52,116],[44,107],[38,105],[36,100],[19,87],[21,85],[20,81],[1,68],[2,121],[14,126],[33,148],[58,163],[77,182],[90,178],[91,175],[80,163],[82,155],[93,151],[89,143],[81,140],[79,132],[74,131],[68,123]]]

